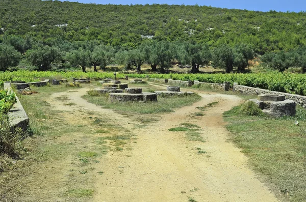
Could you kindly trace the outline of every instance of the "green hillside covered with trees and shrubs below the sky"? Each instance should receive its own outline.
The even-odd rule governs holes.
[[[192,65],[192,72],[210,61],[231,72],[233,66],[243,70],[254,54],[267,53],[263,61],[283,71],[306,63],[305,18],[304,12],[259,12],[197,5],[2,0],[0,61],[11,51],[9,54],[14,57],[6,61],[6,66],[18,62],[13,46],[22,55],[20,59],[27,59],[39,70],[50,69],[55,61],[61,62],[61,68],[68,61],[82,67],[116,62],[127,68],[139,66],[139,70],[141,64],[148,63],[152,70],[156,66],[163,70],[175,59]],[[148,50],[153,54],[155,49],[155,56],[145,54]],[[77,61],[81,57],[83,62]],[[162,59],[157,62],[156,57]],[[4,66],[0,64],[2,70],[7,68]]]

